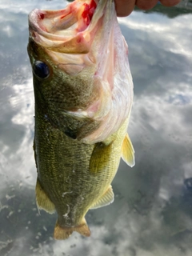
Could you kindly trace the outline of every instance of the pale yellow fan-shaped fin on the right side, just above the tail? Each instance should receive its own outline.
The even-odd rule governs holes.
[[[90,209],[108,206],[112,202],[114,202],[114,192],[112,186],[110,185],[106,192],[102,194],[102,197],[99,198],[98,201],[94,202],[92,206],[90,206]]]

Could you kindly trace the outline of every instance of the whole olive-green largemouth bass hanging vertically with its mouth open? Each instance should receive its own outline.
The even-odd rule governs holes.
[[[54,238],[90,236],[88,210],[114,201],[133,102],[128,46],[114,0],[76,0],[29,14],[38,210],[58,215]]]

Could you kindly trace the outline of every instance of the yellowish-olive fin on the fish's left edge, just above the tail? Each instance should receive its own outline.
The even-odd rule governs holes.
[[[35,188],[36,202],[38,209],[46,210],[49,214],[54,214],[55,206],[54,203],[50,201],[50,198],[46,195],[45,191],[42,189],[40,182],[37,179],[37,184]]]

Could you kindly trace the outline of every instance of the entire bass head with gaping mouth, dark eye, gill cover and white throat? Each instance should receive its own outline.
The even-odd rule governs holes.
[[[35,9],[29,27],[35,103],[74,138],[104,141],[125,122],[133,99],[114,1],[76,0],[63,10]]]

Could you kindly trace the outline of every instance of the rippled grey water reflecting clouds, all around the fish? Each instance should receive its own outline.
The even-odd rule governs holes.
[[[119,18],[129,44],[136,165],[121,162],[114,203],[90,210],[90,238],[52,238],[56,215],[38,210],[34,94],[27,14],[65,1],[0,2],[0,255],[180,256],[192,251],[192,14],[186,6]],[[190,179],[191,178],[191,179]]]

